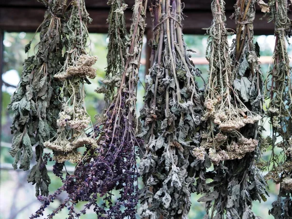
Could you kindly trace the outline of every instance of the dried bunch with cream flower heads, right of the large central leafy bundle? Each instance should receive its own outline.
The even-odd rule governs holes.
[[[219,164],[221,161],[240,159],[255,150],[258,142],[246,138],[239,130],[247,124],[255,124],[261,117],[244,104],[250,95],[248,85],[251,82],[244,76],[249,64],[242,68],[236,65],[239,76],[242,75],[240,80],[235,78],[232,70],[227,36],[233,33],[225,28],[224,1],[213,0],[211,7],[213,21],[207,29],[210,37],[206,55],[210,74],[202,118],[208,123],[208,131],[202,136],[201,146],[196,148],[194,154],[209,149],[210,160]],[[197,159],[204,158],[197,156]]]

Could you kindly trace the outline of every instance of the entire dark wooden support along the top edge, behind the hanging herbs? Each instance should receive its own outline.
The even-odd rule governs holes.
[[[127,26],[130,26],[132,17],[131,7],[134,0],[125,0],[128,9],[125,11]],[[227,27],[236,28],[235,21],[229,18],[234,11],[234,0],[226,0]],[[202,28],[211,25],[212,13],[210,1],[183,0],[184,4],[184,34],[205,34]],[[86,0],[86,6],[93,22],[89,25],[91,33],[107,33],[110,6],[107,0]],[[0,0],[0,29],[9,32],[34,32],[42,22],[45,8],[37,0]],[[274,24],[263,18],[260,10],[256,11],[254,21],[255,35],[274,34]],[[262,18],[262,19],[261,19]],[[151,30],[151,18],[147,13],[147,29]]]

